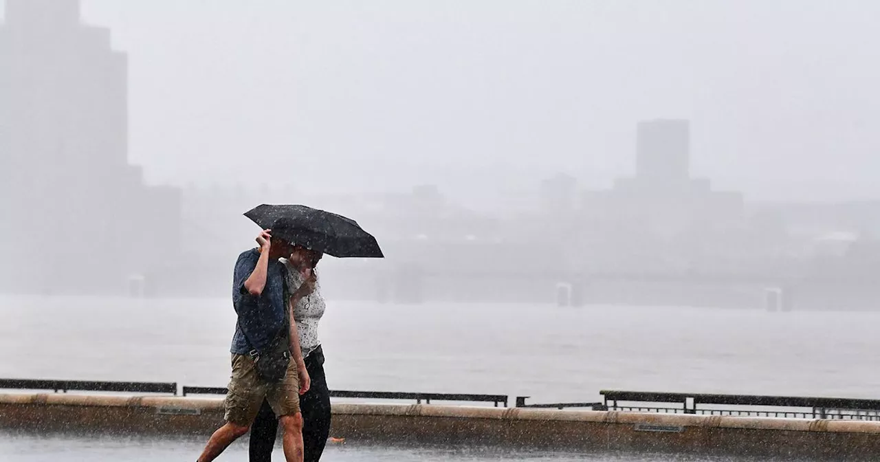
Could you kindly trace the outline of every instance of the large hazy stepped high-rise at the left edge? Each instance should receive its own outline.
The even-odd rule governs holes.
[[[123,290],[180,248],[179,191],[128,164],[127,57],[79,6],[6,0],[0,289]]]

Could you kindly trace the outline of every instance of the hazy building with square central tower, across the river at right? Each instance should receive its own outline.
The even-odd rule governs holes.
[[[635,160],[633,177],[583,196],[583,252],[590,264],[689,268],[739,257],[733,240],[744,226],[743,196],[691,176],[688,121],[640,122]]]

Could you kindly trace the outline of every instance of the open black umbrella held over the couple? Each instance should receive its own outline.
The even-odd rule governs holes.
[[[384,258],[376,238],[363,231],[355,220],[304,205],[262,204],[245,216],[272,237],[299,246],[345,258]]]

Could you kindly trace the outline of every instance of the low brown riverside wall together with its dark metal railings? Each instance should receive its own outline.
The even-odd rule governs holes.
[[[0,387],[42,385],[45,391],[0,394],[0,430],[162,437],[209,435],[223,422],[223,397],[212,395],[222,388],[109,384],[116,383],[0,380]],[[84,390],[86,385],[99,390]],[[602,393],[604,400],[592,403],[526,404],[527,397],[517,397],[517,407],[506,407],[505,395],[334,392],[332,436],[348,444],[490,444],[847,461],[876,460],[880,454],[880,402],[874,400]],[[796,408],[808,410],[791,410]]]

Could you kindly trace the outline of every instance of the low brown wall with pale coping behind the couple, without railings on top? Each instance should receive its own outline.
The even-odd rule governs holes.
[[[555,451],[656,451],[803,460],[876,460],[880,422],[635,414],[529,408],[334,403],[331,436],[349,443],[497,444]],[[0,429],[202,435],[223,400],[0,395]]]

